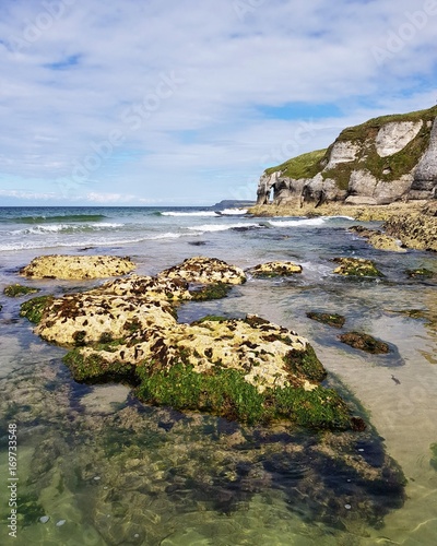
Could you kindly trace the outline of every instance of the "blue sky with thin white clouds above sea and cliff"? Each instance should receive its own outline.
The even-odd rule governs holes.
[[[437,102],[437,0],[4,0],[0,205],[255,200]]]

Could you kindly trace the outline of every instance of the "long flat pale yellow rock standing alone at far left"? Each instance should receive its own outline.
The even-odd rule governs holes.
[[[130,258],[116,256],[39,256],[20,270],[34,278],[104,278],[126,275],[135,269]]]

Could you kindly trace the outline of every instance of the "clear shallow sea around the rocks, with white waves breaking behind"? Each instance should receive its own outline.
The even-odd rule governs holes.
[[[255,217],[212,206],[0,207],[0,544],[436,544],[437,257],[376,250],[349,230],[357,224],[380,227],[347,216]],[[20,317],[32,296],[3,294],[14,283],[61,295],[103,282],[20,276],[33,258],[60,253],[129,256],[140,275],[196,256],[245,270],[300,264],[299,275],[249,274],[224,299],[184,304],[178,320],[256,313],[307,337],[403,472],[405,498],[394,502],[378,490],[381,517],[369,521],[370,500],[358,502],[347,489],[351,500],[339,511],[332,498],[349,487],[345,476],[306,456],[317,431],[267,431],[147,406],[129,385],[74,382],[62,363],[67,349],[42,341]],[[383,276],[336,275],[339,257],[374,260]],[[434,278],[408,273],[421,268]],[[370,334],[390,353],[342,344],[342,331],[311,320],[310,311],[344,316],[342,331]],[[11,431],[16,466],[15,451],[8,456]],[[11,482],[11,468],[19,480]]]

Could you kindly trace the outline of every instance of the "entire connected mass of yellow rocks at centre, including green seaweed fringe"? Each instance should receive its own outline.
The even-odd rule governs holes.
[[[127,382],[151,403],[249,423],[352,427],[350,410],[320,385],[327,371],[296,332],[253,314],[177,322],[178,302],[217,288],[215,297],[223,297],[245,280],[223,261],[193,258],[157,277],[131,275],[80,294],[34,298],[21,312],[44,340],[74,347],[64,363],[76,381]],[[200,298],[188,281],[206,285]]]

